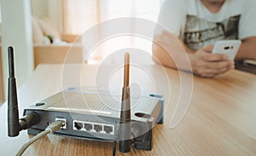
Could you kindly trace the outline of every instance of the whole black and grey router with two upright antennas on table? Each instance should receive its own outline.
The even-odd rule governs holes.
[[[161,95],[139,98],[130,95],[128,53],[125,54],[122,95],[70,88],[27,107],[20,122],[12,57],[13,49],[9,48],[9,136],[18,136],[20,130],[26,129],[29,135],[37,135],[59,120],[65,122],[65,126],[57,130],[56,135],[119,142],[122,153],[130,152],[131,145],[142,150],[152,149],[154,124],[163,123],[164,101]]]

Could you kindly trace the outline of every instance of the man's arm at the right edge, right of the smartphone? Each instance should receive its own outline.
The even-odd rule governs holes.
[[[236,55],[236,60],[240,59],[256,59],[256,37],[241,41],[241,47]]]

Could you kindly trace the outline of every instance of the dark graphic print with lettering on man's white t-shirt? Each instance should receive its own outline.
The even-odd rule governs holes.
[[[183,42],[190,49],[200,49],[220,39],[237,39],[239,20],[240,14],[221,22],[199,19],[188,14]]]

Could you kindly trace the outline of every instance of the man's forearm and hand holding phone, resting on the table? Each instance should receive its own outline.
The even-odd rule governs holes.
[[[228,61],[226,55],[209,53],[212,47],[203,47],[194,52],[170,32],[163,32],[154,36],[152,49],[154,57],[164,66],[212,78],[234,68],[234,61]]]

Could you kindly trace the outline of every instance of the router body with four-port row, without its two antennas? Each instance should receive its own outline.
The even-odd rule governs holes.
[[[83,98],[80,98],[80,95],[81,93],[76,91],[61,91],[26,108],[24,115],[38,113],[41,117],[38,124],[28,129],[28,134],[37,135],[50,123],[61,120],[66,125],[55,132],[57,135],[104,142],[119,141],[119,110],[113,112],[102,109],[102,104],[99,103],[99,101],[104,102],[101,95],[95,96],[95,94],[86,93],[82,96]],[[93,97],[96,103],[96,105],[90,106],[93,109],[89,111],[88,105],[83,103],[84,98],[87,97]],[[97,97],[101,99],[97,99]],[[65,101],[64,98],[66,98]],[[104,95],[104,99],[109,102],[106,95]],[[65,103],[67,101],[70,102],[69,108]],[[72,101],[74,107],[71,106]],[[131,101],[133,100],[131,99]],[[76,108],[77,103],[79,103],[80,109]],[[131,107],[131,139],[133,139],[134,147],[145,150],[151,149],[152,129],[154,124],[161,123],[162,112],[162,98],[154,98],[150,95],[143,96],[135,107]]]

